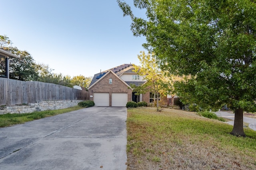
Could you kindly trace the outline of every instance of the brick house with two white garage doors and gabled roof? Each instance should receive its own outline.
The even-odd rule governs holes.
[[[146,83],[143,77],[133,72],[132,64],[122,64],[95,74],[88,87],[90,100],[95,106],[126,106],[128,101],[149,103],[149,93],[135,95],[130,84],[140,86]]]

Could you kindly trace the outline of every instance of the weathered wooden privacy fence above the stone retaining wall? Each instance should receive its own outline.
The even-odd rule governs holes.
[[[90,94],[57,84],[0,78],[0,106],[46,100],[89,100]]]

